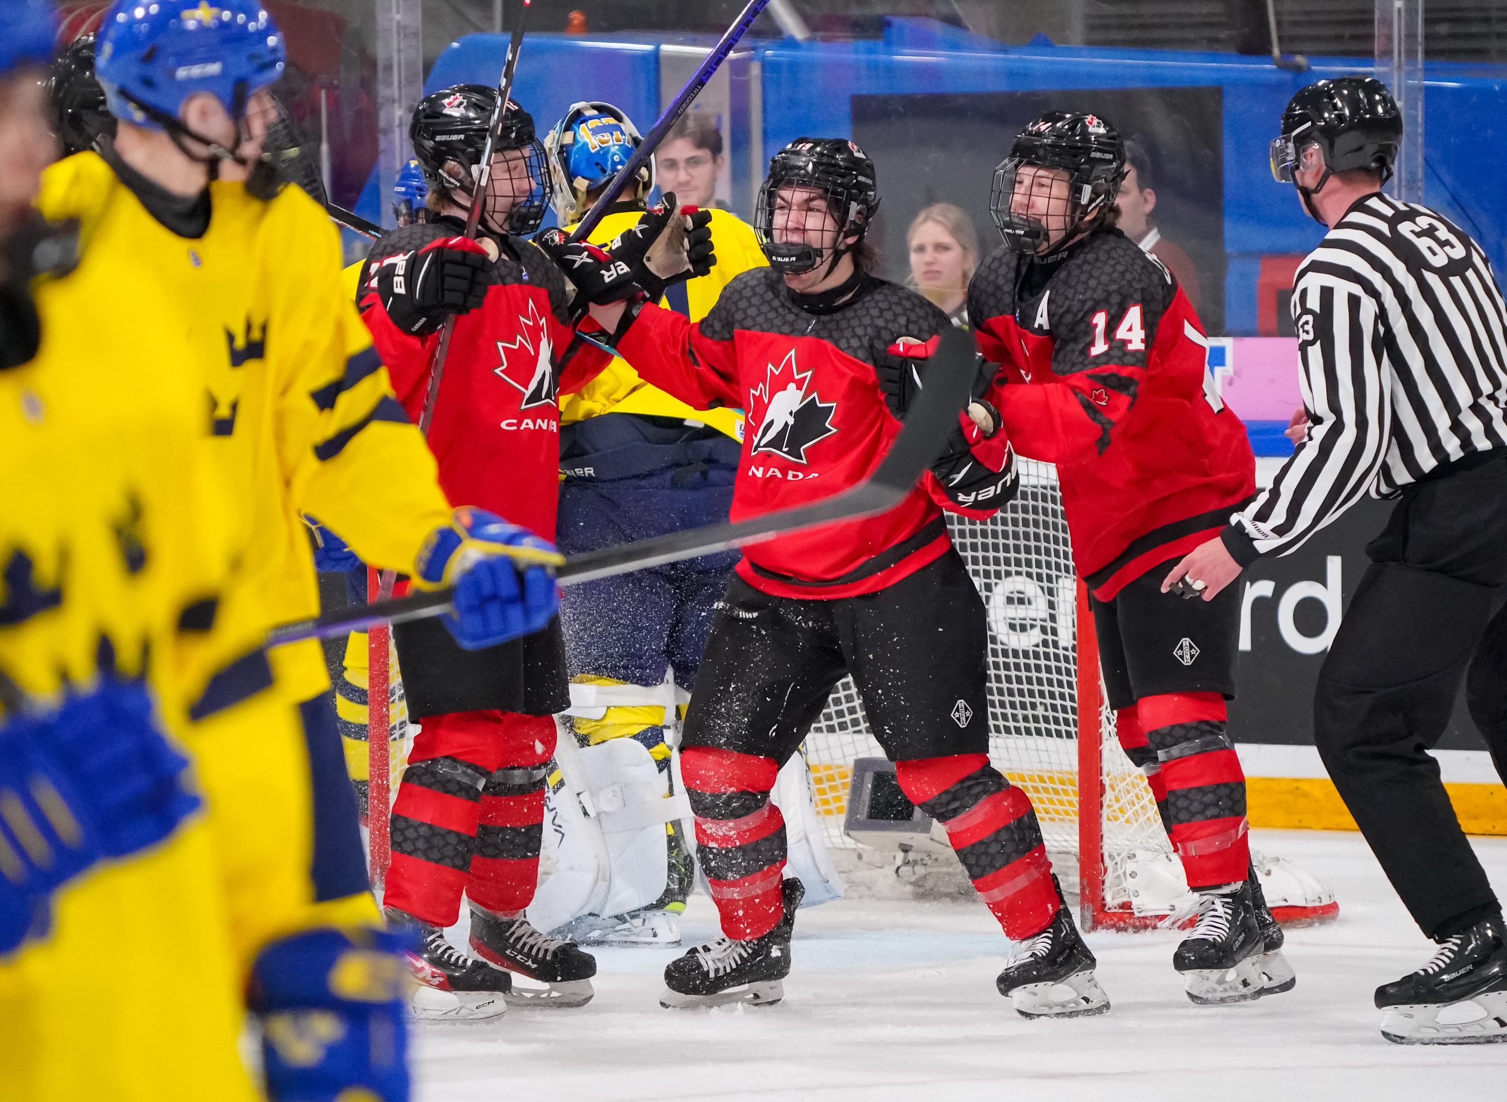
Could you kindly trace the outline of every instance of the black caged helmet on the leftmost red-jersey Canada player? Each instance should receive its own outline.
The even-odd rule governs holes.
[[[466,196],[472,193],[481,175],[487,128],[496,104],[497,89],[485,84],[455,84],[419,101],[408,125],[408,140],[413,142],[413,154],[428,179],[449,191]],[[544,221],[549,169],[544,145],[533,132],[533,116],[509,99],[494,154],[512,149],[523,151],[523,157],[509,158],[511,172],[493,172],[484,220],[494,232],[521,236],[532,233]],[[461,172],[455,172],[455,166]],[[491,208],[503,206],[508,209],[506,217],[493,217]],[[500,211],[496,214],[500,215]]]

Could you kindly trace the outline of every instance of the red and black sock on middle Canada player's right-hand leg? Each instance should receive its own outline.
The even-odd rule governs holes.
[[[1052,923],[1061,899],[1031,799],[987,754],[895,762],[901,792],[946,828],[952,852],[1011,941]]]

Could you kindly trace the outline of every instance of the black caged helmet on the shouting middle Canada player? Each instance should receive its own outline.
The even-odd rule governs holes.
[[[829,235],[830,241],[823,239],[820,245],[814,245],[775,239],[776,196],[787,187],[811,188],[826,196],[827,209],[836,220],[836,232]],[[823,260],[835,265],[844,253],[853,251],[868,232],[877,209],[879,176],[862,149],[847,139],[800,137],[769,161],[769,176],[760,188],[754,212],[754,232],[775,271],[797,274],[811,271]],[[781,227],[784,229],[784,223]],[[853,241],[845,241],[848,236]]]

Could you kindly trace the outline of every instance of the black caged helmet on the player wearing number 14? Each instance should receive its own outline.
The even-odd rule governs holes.
[[[1010,148],[1010,157],[995,169],[989,194],[995,226],[1016,253],[1043,251],[1053,229],[1041,217],[1013,209],[1017,184],[1020,197],[1026,196],[1020,172],[1032,166],[1067,173],[1067,193],[1053,193],[1044,211],[1046,218],[1061,223],[1058,229],[1064,232],[1058,244],[1062,244],[1096,214],[1114,206],[1126,175],[1126,148],[1114,123],[1097,114],[1047,111],[1026,126]]]

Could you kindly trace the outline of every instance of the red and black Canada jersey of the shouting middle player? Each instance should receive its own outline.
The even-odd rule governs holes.
[[[643,306],[618,351],[645,379],[698,409],[743,408],[734,521],[808,504],[865,480],[889,452],[900,422],[874,364],[922,361],[925,342],[951,322],[904,288],[868,279],[835,310],[809,313],[779,272],[735,277],[698,324]],[[912,342],[901,345],[901,337]],[[924,364],[918,363],[924,375]],[[880,516],[833,524],[743,549],[738,575],[775,596],[836,599],[895,584],[942,556],[951,540],[939,503],[958,509],[928,471]]]

